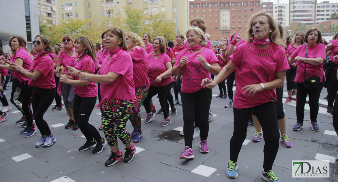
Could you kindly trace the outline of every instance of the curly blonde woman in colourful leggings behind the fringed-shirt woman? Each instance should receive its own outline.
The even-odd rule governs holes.
[[[141,116],[139,114],[140,107],[147,97],[149,89],[148,77],[148,54],[144,50],[144,43],[136,33],[127,32],[126,42],[129,49],[129,55],[132,60],[134,71],[135,96],[137,99],[137,110],[133,111],[129,117],[134,130],[130,134],[130,138],[134,139],[134,143],[139,143],[142,140],[143,133],[141,129]]]

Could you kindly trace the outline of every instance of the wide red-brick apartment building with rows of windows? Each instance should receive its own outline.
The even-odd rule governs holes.
[[[221,41],[240,30],[244,34],[250,17],[260,10],[273,13],[271,1],[260,0],[194,0],[189,1],[190,20],[202,17],[207,23],[206,33],[212,41]]]

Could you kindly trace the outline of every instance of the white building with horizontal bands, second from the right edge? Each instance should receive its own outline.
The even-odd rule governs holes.
[[[289,0],[290,23],[316,25],[317,0]]]

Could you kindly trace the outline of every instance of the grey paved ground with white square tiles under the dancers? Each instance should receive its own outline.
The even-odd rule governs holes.
[[[11,82],[5,96],[9,102]],[[284,89],[286,94],[286,87]],[[41,135],[38,132],[29,138],[20,135],[21,124],[15,124],[22,115],[13,107],[7,112],[8,117],[0,123],[0,181],[26,182],[86,182],[86,181],[117,181],[117,182],[153,182],[153,181],[232,181],[232,182],[262,182],[264,139],[258,143],[252,142],[255,133],[252,125],[247,126],[247,137],[242,145],[238,158],[237,179],[226,177],[226,166],[230,158],[229,143],[233,133],[233,107],[224,108],[228,99],[216,99],[219,94],[218,86],[213,89],[211,110],[215,114],[210,124],[208,144],[209,153],[199,152],[199,139],[193,140],[195,158],[191,160],[179,159],[184,151],[184,139],[173,142],[156,136],[172,130],[182,130],[182,106],[177,105],[177,116],[171,116],[171,124],[161,127],[161,114],[157,114],[150,123],[142,122],[144,137],[137,146],[134,160],[129,163],[117,162],[111,167],[105,167],[111,150],[105,146],[99,154],[92,154],[92,150],[78,151],[86,140],[81,137],[80,130],[65,129],[68,122],[66,110],[52,111],[51,105],[44,115],[52,133],[56,138],[54,145],[48,148],[36,148],[35,143]],[[172,93],[174,96],[174,93]],[[320,103],[327,105],[324,97],[327,95],[323,88]],[[179,96],[180,97],[180,96]],[[295,96],[293,96],[295,98]],[[160,109],[158,98],[153,97],[156,109]],[[285,99],[283,99],[284,103]],[[98,103],[98,102],[97,102]],[[306,105],[308,108],[308,105]],[[338,137],[332,126],[332,115],[326,114],[326,108],[320,108],[318,114],[319,132],[311,130],[310,113],[305,110],[304,128],[299,132],[292,131],[296,122],[295,101],[284,104],[286,115],[287,135],[292,142],[291,148],[285,148],[280,140],[280,147],[274,162],[273,171],[283,181],[338,181],[338,167],[335,157],[338,155]],[[145,118],[145,109],[141,106],[141,118]],[[98,128],[101,122],[100,110],[94,109],[90,123]],[[61,123],[61,124],[60,124]],[[53,127],[54,126],[54,127]],[[132,126],[128,121],[126,129],[131,132]],[[99,131],[102,137],[103,132]],[[263,131],[264,134],[264,131]],[[124,145],[119,141],[119,148],[124,153]],[[292,160],[330,160],[329,178],[292,178]],[[336,168],[337,167],[337,168]]]

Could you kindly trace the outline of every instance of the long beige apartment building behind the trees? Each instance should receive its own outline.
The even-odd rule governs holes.
[[[189,26],[189,0],[177,0],[177,28],[184,32]],[[112,17],[122,13],[123,7],[143,10],[145,17],[149,12],[162,11],[175,21],[175,0],[58,0],[58,19],[87,20],[92,17]],[[175,27],[173,27],[175,31]]]

